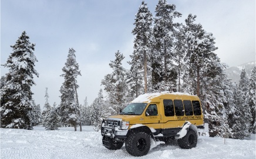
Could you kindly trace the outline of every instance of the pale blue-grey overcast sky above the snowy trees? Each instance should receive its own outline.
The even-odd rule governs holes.
[[[158,1],[145,1],[150,12]],[[167,0],[176,5],[183,22],[189,13],[197,15],[196,23],[213,33],[215,53],[222,63],[237,66],[255,61],[255,0]],[[142,1],[137,0],[1,0],[1,64],[12,53],[18,37],[25,30],[30,42],[35,43],[38,58],[32,87],[33,98],[43,107],[45,88],[49,103],[59,104],[59,89],[64,81],[60,77],[68,57],[69,48],[76,50],[76,61],[82,76],[78,77],[79,102],[87,96],[89,104],[97,97],[101,80],[112,70],[117,50],[126,57],[124,68],[133,52],[135,15]],[[1,66],[1,75],[8,70]]]

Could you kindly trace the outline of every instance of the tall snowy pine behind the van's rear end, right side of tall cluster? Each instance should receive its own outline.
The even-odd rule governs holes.
[[[214,50],[215,38],[207,33],[200,24],[194,23],[196,16],[188,15],[186,26],[186,64],[183,89],[200,97],[206,119],[209,123],[210,136],[230,134],[228,116],[225,106],[228,103],[225,94],[228,93],[226,66],[220,63]],[[225,83],[226,82],[226,83]]]

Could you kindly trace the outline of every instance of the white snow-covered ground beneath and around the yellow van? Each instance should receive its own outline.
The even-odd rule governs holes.
[[[79,130],[79,127],[78,127]],[[196,148],[184,150],[177,146],[160,144],[142,157],[133,157],[123,146],[108,150],[102,146],[100,132],[83,126],[83,132],[73,132],[73,127],[46,131],[36,126],[34,130],[0,129],[1,158],[255,158],[255,134],[250,139],[234,140],[200,136]]]

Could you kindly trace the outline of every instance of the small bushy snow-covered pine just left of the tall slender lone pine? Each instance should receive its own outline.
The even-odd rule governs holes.
[[[59,117],[56,111],[56,103],[53,103],[53,106],[50,106],[48,112],[46,112],[45,116],[45,130],[59,130]]]

